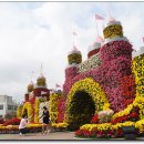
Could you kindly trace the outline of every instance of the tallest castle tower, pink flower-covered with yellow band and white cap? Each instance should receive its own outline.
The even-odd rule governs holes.
[[[124,110],[134,99],[132,76],[132,44],[123,35],[120,21],[110,19],[103,30],[104,45],[101,48],[101,60],[106,68],[105,92],[115,112]],[[123,84],[123,82],[125,83]],[[128,91],[128,93],[126,93]]]

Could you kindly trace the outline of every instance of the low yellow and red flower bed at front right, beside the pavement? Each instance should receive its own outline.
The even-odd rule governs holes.
[[[136,134],[144,132],[144,121],[131,122],[126,121],[124,123],[111,124],[85,124],[75,132],[75,136],[79,137],[93,137],[93,138],[114,138],[123,137],[122,127],[124,126],[135,126]]]

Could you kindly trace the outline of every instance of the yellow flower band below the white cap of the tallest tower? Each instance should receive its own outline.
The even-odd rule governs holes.
[[[104,39],[114,38],[116,35],[123,37],[123,28],[121,24],[109,25],[103,30]]]

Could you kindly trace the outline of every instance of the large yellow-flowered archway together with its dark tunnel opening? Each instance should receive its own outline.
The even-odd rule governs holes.
[[[82,113],[80,114],[80,117],[76,117],[76,111],[73,112],[74,107],[79,110],[81,109],[81,106],[83,106],[84,100],[81,100],[83,95],[85,95],[85,100],[91,103],[90,105],[94,105],[92,110],[95,110],[95,112],[91,112],[90,110],[88,110],[90,111],[90,114],[96,114],[100,111],[110,110],[110,103],[101,85],[91,78],[80,80],[73,84],[66,97],[66,112],[64,122],[69,124],[70,130],[79,128],[83,123],[90,123],[91,115],[88,115],[86,121],[79,122],[80,117],[82,119]],[[80,99],[80,104],[78,99]],[[75,104],[76,106],[74,106],[73,104]],[[88,104],[85,106],[88,107]]]

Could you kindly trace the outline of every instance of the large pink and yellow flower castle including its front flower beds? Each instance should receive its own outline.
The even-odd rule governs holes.
[[[96,37],[89,48],[88,60],[74,45],[68,54],[63,92],[50,94],[49,111],[52,125],[78,130],[76,136],[85,136],[110,130],[113,134],[122,126],[133,125],[140,133],[144,124],[144,48],[134,52],[123,35],[120,21],[111,20],[103,29],[104,40]],[[32,84],[29,85],[33,90]],[[49,90],[47,90],[49,92]],[[34,91],[33,91],[34,92]],[[25,95],[25,101],[28,95]],[[48,100],[45,100],[48,101]],[[34,122],[41,101],[34,99]],[[32,106],[32,105],[31,105]],[[30,110],[29,110],[30,111]],[[113,112],[110,121],[100,121],[99,113]],[[95,121],[94,121],[95,119]],[[94,124],[93,124],[94,123]],[[94,132],[94,133],[92,133]]]

